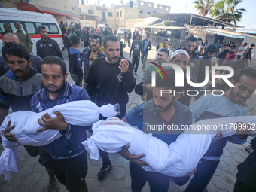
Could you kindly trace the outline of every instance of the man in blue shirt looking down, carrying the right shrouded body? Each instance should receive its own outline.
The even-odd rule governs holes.
[[[174,70],[166,69],[165,72],[168,79],[162,80],[158,73],[156,75],[156,87],[152,87],[153,99],[132,108],[122,120],[132,126],[138,126],[139,130],[143,130],[146,133],[153,133],[153,136],[169,145],[175,142],[183,130],[147,130],[147,125],[157,126],[164,124],[181,127],[181,125],[190,125],[192,123],[192,117],[189,108],[177,101],[181,93],[173,94],[174,90],[175,92],[181,91],[181,87],[175,87]],[[172,93],[162,94],[161,91],[163,90],[172,90]],[[123,147],[120,154],[131,161],[130,175],[132,179],[132,190],[141,191],[146,181],[148,181],[151,192],[167,191],[171,177],[157,172],[147,172],[142,169],[141,166],[148,165],[139,160],[145,154],[132,155],[127,151],[128,146]],[[187,178],[173,179],[176,184],[187,182]]]

